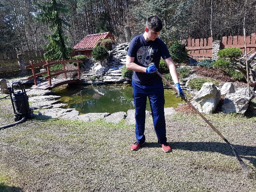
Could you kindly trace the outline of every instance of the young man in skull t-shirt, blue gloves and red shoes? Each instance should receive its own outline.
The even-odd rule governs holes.
[[[132,87],[135,105],[135,135],[136,142],[131,150],[138,150],[145,143],[145,118],[146,100],[150,101],[150,108],[154,123],[154,129],[158,143],[164,152],[172,149],[167,143],[166,125],[164,118],[164,87],[162,79],[154,73],[159,69],[161,57],[170,69],[172,80],[178,91],[178,96],[185,94],[180,88],[176,66],[172,61],[166,44],[158,38],[162,30],[162,21],[157,16],[151,16],[146,21],[144,34],[136,36],[130,42],[127,52],[126,68],[133,70]],[[154,63],[154,64],[151,64]]]

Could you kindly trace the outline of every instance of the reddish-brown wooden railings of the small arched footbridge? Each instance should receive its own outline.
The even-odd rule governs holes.
[[[69,63],[69,62],[76,62],[76,67],[77,69],[75,70],[66,70],[65,68],[65,64],[66,63]],[[34,84],[37,86],[37,80],[36,80],[36,77],[38,76],[41,76],[41,75],[44,75],[44,74],[48,74],[48,76],[44,77],[45,80],[48,80],[49,82],[49,86],[52,86],[52,80],[51,78],[53,76],[57,76],[57,75],[60,75],[60,74],[64,74],[65,76],[65,79],[67,79],[67,73],[68,72],[77,72],[78,73],[78,79],[80,79],[80,72],[83,72],[84,70],[80,70],[79,69],[79,63],[82,63],[83,61],[82,60],[78,60],[78,58],[76,58],[76,60],[61,60],[61,61],[44,61],[44,62],[39,62],[39,63],[34,63],[32,61],[30,61],[30,65],[27,65],[25,66],[26,69],[29,69],[31,68],[32,70],[32,76],[29,76],[28,77],[28,80],[30,79],[34,79]],[[52,65],[55,65],[55,64],[59,64],[61,63],[62,64],[62,70],[50,70],[50,66]],[[40,73],[36,73],[35,72],[35,68],[36,67],[40,67],[42,66],[43,68],[46,68],[46,72],[40,72]]]

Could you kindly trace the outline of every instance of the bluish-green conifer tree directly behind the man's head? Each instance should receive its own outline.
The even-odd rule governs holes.
[[[171,40],[179,40],[179,38],[188,34],[190,25],[188,16],[193,2],[184,0],[145,0],[141,2],[142,5],[134,7],[132,13],[138,21],[141,21],[140,27],[142,28],[145,26],[148,17],[158,16],[163,22],[160,38],[167,43]]]

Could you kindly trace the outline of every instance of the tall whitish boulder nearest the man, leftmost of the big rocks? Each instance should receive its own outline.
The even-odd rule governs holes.
[[[204,83],[191,104],[201,113],[213,113],[220,102],[220,90],[213,83]]]

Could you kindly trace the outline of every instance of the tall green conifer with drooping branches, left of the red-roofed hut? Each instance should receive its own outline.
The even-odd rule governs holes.
[[[68,38],[63,33],[63,27],[68,28],[70,25],[61,18],[61,14],[67,14],[69,9],[66,4],[57,3],[56,0],[33,2],[38,8],[39,13],[36,17],[38,22],[48,25],[52,34],[42,36],[49,42],[43,45],[46,53],[44,58],[52,60],[64,60],[69,58],[71,48],[68,47]]]

